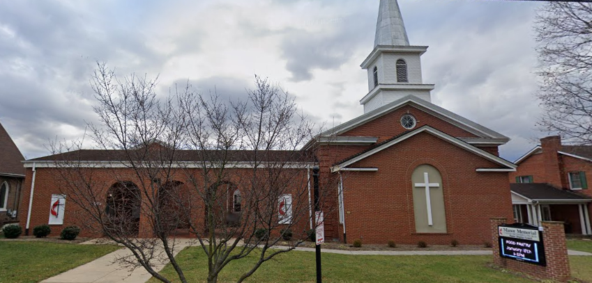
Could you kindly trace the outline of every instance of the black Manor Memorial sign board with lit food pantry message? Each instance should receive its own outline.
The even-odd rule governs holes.
[[[524,224],[499,225],[501,257],[545,266],[545,247],[538,227]]]

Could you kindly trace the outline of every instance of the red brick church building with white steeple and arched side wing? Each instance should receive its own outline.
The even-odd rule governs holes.
[[[381,0],[374,49],[361,64],[368,77],[363,115],[301,149],[318,148],[318,163],[301,168],[303,174],[319,165],[321,175],[339,180],[321,188],[337,208],[325,218],[327,239],[482,244],[491,239],[489,218],[513,219],[508,172],[516,165],[498,153],[509,138],[432,104],[434,85],[423,83],[421,72],[426,51],[409,44],[397,1]],[[72,154],[96,164],[114,159],[109,152],[89,152]],[[54,186],[59,177],[52,167],[60,158],[24,163],[23,203],[33,197],[32,207],[40,208],[21,206],[20,215],[30,219],[26,228],[47,224],[50,203],[67,200],[56,197]],[[77,223],[68,214],[73,204],[63,209],[63,219],[53,224]]]

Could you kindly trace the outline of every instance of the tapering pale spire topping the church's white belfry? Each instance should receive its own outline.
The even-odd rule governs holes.
[[[374,47],[377,45],[409,46],[397,0],[380,0]]]

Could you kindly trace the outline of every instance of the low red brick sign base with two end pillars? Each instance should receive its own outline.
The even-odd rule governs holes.
[[[499,230],[498,226],[506,224],[506,218],[492,218],[492,248],[494,264],[510,270],[526,273],[542,280],[556,280],[566,282],[570,280],[570,262],[566,245],[566,234],[562,222],[543,221],[542,238],[545,243],[545,257],[547,266],[537,266],[524,261],[506,259],[499,255]]]

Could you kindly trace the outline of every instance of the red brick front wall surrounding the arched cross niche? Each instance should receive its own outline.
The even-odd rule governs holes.
[[[446,234],[416,233],[411,174],[421,164],[434,166],[442,176]],[[489,218],[513,215],[507,173],[476,172],[499,165],[431,134],[413,136],[351,167],[379,170],[342,173],[349,242],[446,245],[455,239],[480,245],[489,241]]]

